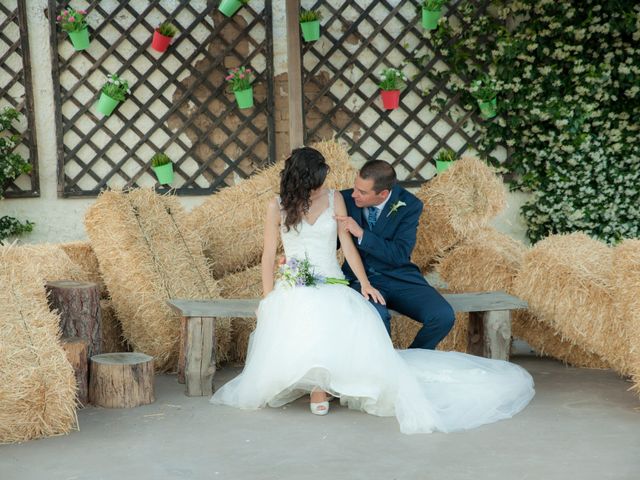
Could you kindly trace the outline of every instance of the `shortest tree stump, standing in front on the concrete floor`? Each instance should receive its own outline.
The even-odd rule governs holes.
[[[94,355],[89,375],[89,401],[106,408],[153,403],[153,374],[153,357],[144,353]]]

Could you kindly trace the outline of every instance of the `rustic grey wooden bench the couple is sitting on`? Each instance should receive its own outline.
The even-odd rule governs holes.
[[[443,295],[456,312],[469,312],[468,353],[509,359],[511,310],[527,302],[504,292]],[[215,364],[215,319],[255,318],[259,299],[169,300],[181,320],[178,381],[188,396],[211,395]],[[397,312],[393,312],[397,314]]]

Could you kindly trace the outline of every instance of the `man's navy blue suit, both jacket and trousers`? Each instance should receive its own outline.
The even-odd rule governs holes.
[[[391,315],[387,308],[396,310],[422,323],[409,348],[435,349],[453,327],[455,314],[451,305],[440,295],[411,263],[411,252],[416,244],[416,231],[422,213],[422,202],[404,188],[396,185],[373,227],[369,228],[362,208],[356,206],[351,194],[343,190],[347,215],[363,229],[362,241],[354,238],[371,285],[378,289],[387,305],[372,302],[387,331],[391,331]],[[406,205],[391,212],[397,202]],[[342,266],[349,285],[360,291],[360,282],[345,262]]]

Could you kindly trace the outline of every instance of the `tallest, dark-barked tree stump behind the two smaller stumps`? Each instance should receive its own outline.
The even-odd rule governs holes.
[[[45,287],[49,308],[60,314],[62,336],[83,338],[89,342],[89,357],[99,354],[102,333],[98,284],[60,280],[47,282]]]

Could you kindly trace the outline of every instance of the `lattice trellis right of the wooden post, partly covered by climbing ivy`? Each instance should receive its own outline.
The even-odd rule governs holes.
[[[458,154],[474,149],[482,121],[466,112],[442,81],[430,70],[446,69],[419,17],[419,0],[335,0],[303,2],[323,14],[319,41],[303,43],[305,141],[337,136],[349,144],[356,163],[380,158],[391,162],[406,186],[417,186],[435,173],[434,156],[442,148]],[[459,20],[459,0],[445,4],[445,15]],[[411,58],[428,61],[418,69]],[[403,63],[407,63],[403,65]],[[387,67],[409,76],[400,108],[384,110],[379,73]],[[446,102],[434,114],[434,98]]]

